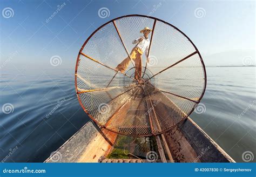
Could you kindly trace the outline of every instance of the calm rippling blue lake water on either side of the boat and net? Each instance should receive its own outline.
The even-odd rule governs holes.
[[[203,111],[190,115],[237,162],[246,151],[256,155],[255,69],[207,67]],[[0,160],[42,162],[89,120],[73,70],[8,73],[0,81]]]

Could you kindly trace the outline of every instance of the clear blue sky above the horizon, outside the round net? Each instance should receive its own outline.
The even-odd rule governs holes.
[[[49,20],[58,5],[63,8]],[[255,64],[254,1],[1,0],[0,7],[1,68],[6,70],[22,65],[54,68],[52,56],[62,59],[59,68],[75,69],[87,37],[100,25],[129,14],[151,15],[177,26],[208,66],[242,65],[245,60]],[[4,15],[5,8],[11,8],[11,15]],[[109,9],[105,18],[99,17],[100,8]],[[198,8],[203,9],[201,18],[195,15]]]

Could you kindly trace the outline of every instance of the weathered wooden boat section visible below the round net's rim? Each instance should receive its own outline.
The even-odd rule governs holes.
[[[129,94],[124,97],[128,98]],[[114,100],[110,104],[117,103],[118,100]],[[127,107],[134,103],[125,104],[117,114],[128,112]],[[162,162],[163,155],[167,162],[235,162],[189,117],[164,132],[161,142],[156,137],[117,134],[89,121],[45,162]]]

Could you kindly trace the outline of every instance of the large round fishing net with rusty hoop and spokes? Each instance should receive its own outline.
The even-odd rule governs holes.
[[[148,43],[142,41],[147,47],[134,54],[139,43],[134,40],[145,27],[151,30]],[[205,84],[203,60],[191,40],[153,17],[106,23],[86,40],[77,60],[76,90],[84,111],[106,130],[123,135],[170,130],[197,106]]]

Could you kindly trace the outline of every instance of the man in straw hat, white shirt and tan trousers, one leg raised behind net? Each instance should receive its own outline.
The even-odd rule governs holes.
[[[152,30],[149,27],[145,27],[143,30],[140,30],[140,33],[143,33],[142,37],[139,37],[138,39],[133,40],[132,44],[137,44],[135,47],[133,47],[130,57],[135,62],[135,74],[134,79],[139,80],[142,77],[142,54],[145,52],[145,55],[147,57],[148,62],[148,55],[149,55],[149,33]],[[124,73],[124,71],[129,66],[131,59],[129,57],[125,58],[123,62],[121,62],[119,65],[117,65],[116,70]]]

